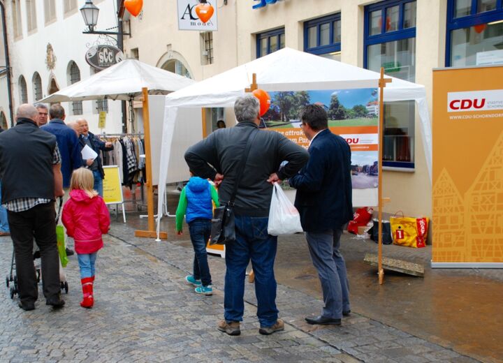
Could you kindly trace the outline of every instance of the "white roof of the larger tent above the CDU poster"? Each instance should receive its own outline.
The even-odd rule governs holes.
[[[380,74],[291,48],[242,64],[166,97],[166,105],[182,107],[228,107],[245,93],[252,74],[258,88],[266,91],[305,91],[310,89],[354,89],[378,87]],[[385,101],[425,97],[420,84],[390,77]]]

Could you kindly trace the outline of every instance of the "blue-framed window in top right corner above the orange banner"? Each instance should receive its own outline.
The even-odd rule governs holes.
[[[503,1],[449,0],[446,66],[503,64]]]

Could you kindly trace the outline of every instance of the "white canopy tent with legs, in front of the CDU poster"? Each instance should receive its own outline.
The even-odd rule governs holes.
[[[164,113],[158,210],[161,210],[163,205],[162,196],[168,180],[173,130],[177,122],[182,122],[179,108],[232,107],[235,99],[245,94],[245,88],[250,87],[253,73],[256,73],[258,88],[265,91],[377,88],[380,77],[377,72],[284,48],[169,94],[166,96]],[[393,82],[388,83],[384,89],[385,102],[416,101],[431,179],[432,138],[425,87],[398,78],[390,78]],[[159,214],[158,232],[161,217]]]

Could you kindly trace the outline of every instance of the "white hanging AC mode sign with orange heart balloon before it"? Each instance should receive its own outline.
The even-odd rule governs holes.
[[[197,31],[218,30],[217,0],[177,0],[178,29]]]

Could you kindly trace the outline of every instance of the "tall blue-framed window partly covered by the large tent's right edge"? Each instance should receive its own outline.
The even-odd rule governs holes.
[[[414,82],[416,0],[387,0],[365,6],[365,68]],[[414,169],[414,101],[384,103],[383,165]]]

